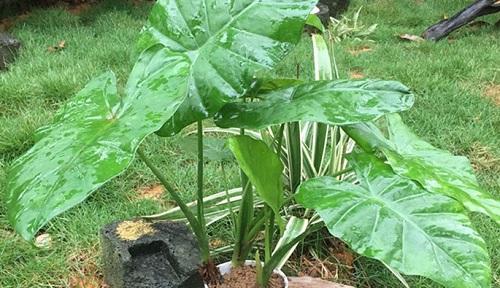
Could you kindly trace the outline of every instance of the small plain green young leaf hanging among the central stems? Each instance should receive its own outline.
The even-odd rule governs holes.
[[[255,186],[259,196],[279,215],[283,203],[281,174],[284,167],[278,155],[263,141],[249,136],[229,138],[228,144],[241,170]]]

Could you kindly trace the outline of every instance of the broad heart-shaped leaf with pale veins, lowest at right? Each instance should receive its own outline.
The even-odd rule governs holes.
[[[447,287],[490,287],[485,243],[460,203],[427,192],[371,154],[354,153],[350,163],[360,185],[315,178],[296,196],[330,233],[402,273]]]

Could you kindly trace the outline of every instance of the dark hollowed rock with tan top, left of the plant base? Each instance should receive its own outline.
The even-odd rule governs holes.
[[[114,222],[101,230],[104,280],[111,288],[202,288],[200,251],[183,223]]]

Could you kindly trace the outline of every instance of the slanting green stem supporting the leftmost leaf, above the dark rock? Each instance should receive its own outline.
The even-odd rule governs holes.
[[[139,147],[137,149],[137,154],[139,155],[139,158],[148,166],[148,168],[153,172],[153,174],[160,180],[161,184],[167,189],[168,193],[172,196],[174,199],[175,203],[179,206],[181,209],[182,213],[184,213],[184,216],[186,216],[186,219],[188,220],[189,224],[191,225],[191,229],[193,229],[193,232],[200,244],[200,250],[202,254],[202,261],[203,263],[208,263],[210,260],[210,250],[208,248],[208,238],[206,233],[203,233],[203,230],[200,227],[200,223],[196,219],[195,215],[193,212],[187,207],[186,203],[182,201],[181,196],[179,195],[179,192],[173,185],[170,184],[170,182],[167,180],[167,178],[160,172],[158,168],[153,164],[153,162],[146,156],[144,151]]]

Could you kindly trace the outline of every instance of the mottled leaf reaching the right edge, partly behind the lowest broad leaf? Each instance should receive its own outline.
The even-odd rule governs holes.
[[[466,157],[455,156],[418,138],[397,114],[387,115],[386,119],[389,139],[373,123],[345,127],[345,131],[365,150],[381,150],[396,173],[500,223],[500,201],[481,189]]]

